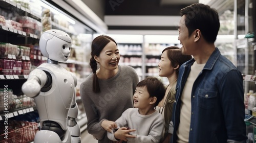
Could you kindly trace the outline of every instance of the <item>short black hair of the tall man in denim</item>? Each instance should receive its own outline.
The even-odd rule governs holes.
[[[220,29],[220,19],[216,9],[204,4],[193,4],[181,9],[180,15],[186,15],[185,25],[188,36],[199,29],[205,41],[215,42]]]

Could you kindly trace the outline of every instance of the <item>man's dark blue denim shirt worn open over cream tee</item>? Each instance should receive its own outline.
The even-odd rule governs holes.
[[[195,62],[180,67],[174,104],[174,134],[180,123],[181,94]],[[243,77],[216,47],[194,82],[191,92],[190,143],[246,142]]]

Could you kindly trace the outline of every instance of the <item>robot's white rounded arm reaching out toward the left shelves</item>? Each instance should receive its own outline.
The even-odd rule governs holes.
[[[47,80],[48,78],[44,70],[34,69],[29,74],[27,81],[22,85],[22,91],[28,97],[36,97]]]

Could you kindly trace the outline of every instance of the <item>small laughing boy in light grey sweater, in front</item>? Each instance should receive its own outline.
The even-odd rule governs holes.
[[[108,138],[113,141],[119,138],[127,142],[159,142],[164,120],[155,107],[164,94],[164,85],[157,78],[147,77],[140,81],[133,95],[134,108],[125,110],[115,121],[118,128],[122,128],[112,129],[112,132],[108,132]]]

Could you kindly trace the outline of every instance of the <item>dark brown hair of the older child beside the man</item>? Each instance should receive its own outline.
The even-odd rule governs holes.
[[[181,49],[178,46],[168,46],[162,51],[162,54],[164,51],[167,51],[167,57],[170,60],[173,67],[177,67],[177,65],[179,65],[179,67],[176,69],[177,76],[179,74],[180,66],[184,62],[192,59],[191,55],[182,55]]]

